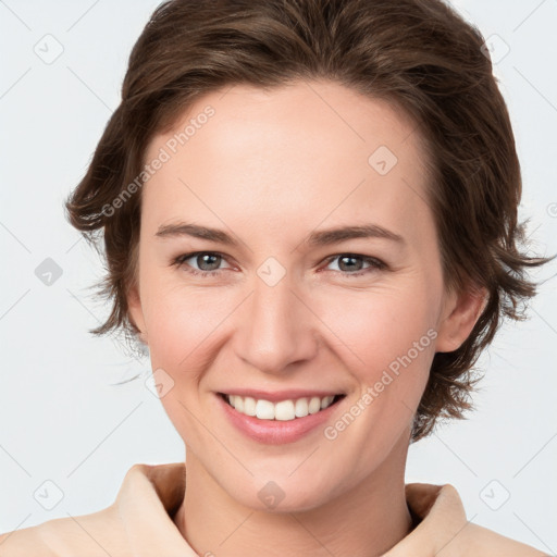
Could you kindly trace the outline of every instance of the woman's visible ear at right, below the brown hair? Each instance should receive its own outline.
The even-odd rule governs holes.
[[[461,293],[446,293],[437,327],[435,351],[450,352],[459,348],[472,332],[487,305],[487,289],[483,287],[470,287]]]

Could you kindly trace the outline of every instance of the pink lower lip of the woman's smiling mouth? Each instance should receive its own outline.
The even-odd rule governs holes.
[[[216,395],[221,407],[228,420],[244,434],[259,443],[269,445],[283,445],[294,443],[311,431],[326,422],[335,411],[338,403],[329,406],[317,413],[294,420],[260,420],[253,416],[246,416],[233,408],[221,395]]]

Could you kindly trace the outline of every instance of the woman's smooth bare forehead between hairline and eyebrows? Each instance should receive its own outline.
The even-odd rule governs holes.
[[[259,215],[268,231],[284,233],[285,219],[314,227],[373,216],[412,234],[420,216],[431,219],[417,126],[386,101],[338,84],[213,91],[151,139],[146,162],[162,151],[168,160],[143,190],[151,226],[184,215],[219,226],[219,214]]]

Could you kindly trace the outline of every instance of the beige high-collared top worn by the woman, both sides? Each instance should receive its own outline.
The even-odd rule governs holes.
[[[172,520],[184,497],[185,480],[184,462],[134,465],[111,506],[4,533],[0,556],[198,557]],[[419,523],[383,557],[547,556],[468,522],[450,484],[410,483],[406,497]]]

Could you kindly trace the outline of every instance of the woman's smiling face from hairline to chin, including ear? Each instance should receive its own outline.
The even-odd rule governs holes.
[[[131,317],[187,459],[236,502],[264,508],[269,481],[283,509],[356,487],[407,446],[435,351],[470,332],[423,157],[399,111],[329,82],[213,92],[152,138]]]

